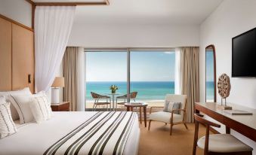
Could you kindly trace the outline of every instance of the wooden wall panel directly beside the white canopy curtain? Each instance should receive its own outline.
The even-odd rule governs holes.
[[[33,32],[12,24],[12,90],[29,87],[34,93]],[[31,84],[29,84],[29,74]]]

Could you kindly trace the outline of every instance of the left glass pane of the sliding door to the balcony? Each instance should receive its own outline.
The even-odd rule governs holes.
[[[109,89],[118,87],[115,96]],[[95,100],[91,93],[109,96],[111,99],[99,99],[98,102],[116,102],[117,96],[127,93],[127,53],[125,51],[86,52],[86,107],[92,108]],[[113,99],[114,98],[114,99]],[[106,105],[101,106],[105,108]]]

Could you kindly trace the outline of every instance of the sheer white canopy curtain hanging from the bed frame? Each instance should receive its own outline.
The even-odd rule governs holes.
[[[75,6],[35,8],[35,89],[48,91],[63,58]]]

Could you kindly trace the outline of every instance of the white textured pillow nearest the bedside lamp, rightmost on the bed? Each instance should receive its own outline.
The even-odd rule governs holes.
[[[51,104],[44,93],[32,97],[30,108],[37,123],[51,119]]]

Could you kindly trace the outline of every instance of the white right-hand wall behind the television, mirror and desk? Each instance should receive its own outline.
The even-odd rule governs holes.
[[[231,91],[227,102],[256,108],[256,79],[231,78],[232,38],[256,27],[255,8],[256,1],[254,0],[225,0],[200,26],[201,102],[205,101],[205,47],[214,44],[217,78],[223,73],[230,76]],[[218,95],[217,102],[221,102]],[[254,147],[254,154],[256,154],[254,141],[234,131],[232,133]]]

